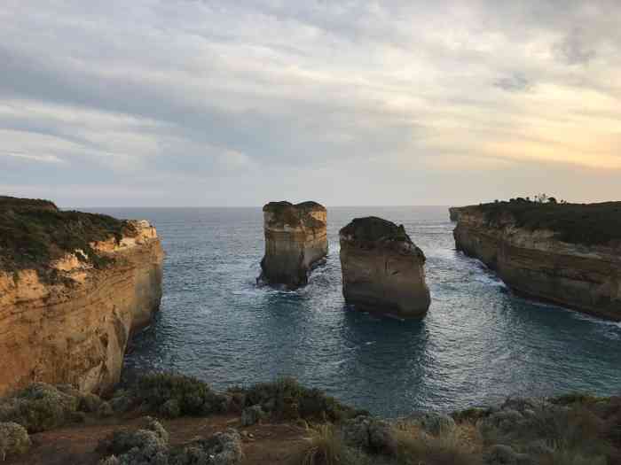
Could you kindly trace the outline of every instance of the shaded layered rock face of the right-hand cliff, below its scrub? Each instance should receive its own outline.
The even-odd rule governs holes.
[[[460,209],[456,248],[483,261],[518,293],[621,321],[621,247],[570,244],[550,229],[517,227],[511,214]]]

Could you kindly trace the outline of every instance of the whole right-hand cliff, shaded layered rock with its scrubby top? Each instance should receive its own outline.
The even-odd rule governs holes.
[[[462,207],[456,248],[513,290],[621,321],[621,203]]]

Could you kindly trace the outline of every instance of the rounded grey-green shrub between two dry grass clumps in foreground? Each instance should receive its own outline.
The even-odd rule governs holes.
[[[394,455],[397,438],[388,422],[371,416],[357,416],[342,424],[342,437],[348,446],[371,453]]]

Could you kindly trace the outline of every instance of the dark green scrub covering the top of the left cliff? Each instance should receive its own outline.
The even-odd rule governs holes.
[[[0,269],[42,269],[51,260],[80,249],[95,267],[109,261],[90,243],[132,235],[130,222],[111,216],[61,211],[49,200],[0,197]]]

